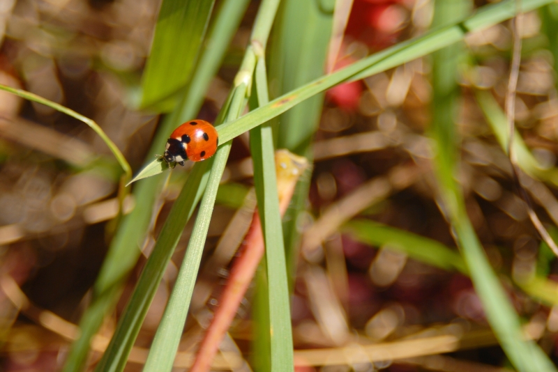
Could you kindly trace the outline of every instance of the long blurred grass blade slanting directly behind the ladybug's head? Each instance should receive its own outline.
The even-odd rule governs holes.
[[[206,44],[202,46],[202,56],[193,72],[194,76],[188,84],[183,102],[171,115],[165,116],[163,122],[160,123],[156,137],[146,155],[148,160],[153,160],[156,154],[160,155],[163,152],[165,141],[173,127],[193,118],[199,111],[206,88],[223,59],[247,4],[248,0],[225,0],[220,3],[209,28]],[[225,102],[224,107],[228,107],[228,104],[228,101]],[[166,165],[160,162],[151,164]],[[136,200],[135,209],[130,215],[123,217],[111,242],[103,268],[93,287],[91,307],[85,311],[80,321],[80,338],[73,343],[68,353],[64,366],[65,372],[80,371],[86,361],[89,342],[93,334],[97,332],[105,316],[114,308],[121,293],[123,281],[140,256],[140,249],[154,212],[153,206],[160,193],[163,180],[164,178],[161,177],[149,178],[133,189]]]

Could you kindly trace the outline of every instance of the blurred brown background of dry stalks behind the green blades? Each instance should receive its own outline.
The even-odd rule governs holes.
[[[93,119],[137,172],[160,119],[135,109],[159,6],[155,0],[0,0],[0,83],[24,88]],[[258,6],[258,1],[248,6],[198,118],[216,118]],[[432,9],[432,0],[354,0],[333,69],[423,34],[430,27]],[[523,20],[515,116],[527,147],[544,169],[552,170],[558,150],[558,98],[551,33],[544,20],[548,11],[529,13]],[[529,222],[507,157],[475,93],[491,92],[503,107],[509,24],[469,36],[466,44],[470,60],[462,61],[460,68],[456,121],[467,211],[516,311],[538,330],[541,346],[556,361],[554,256],[541,246]],[[315,164],[305,174],[310,181],[307,212],[297,221],[303,243],[292,295],[294,345],[296,350],[334,348],[357,339],[379,343],[439,332],[467,334],[469,339],[460,350],[441,346],[428,357],[418,352],[411,359],[377,364],[316,363],[298,367],[301,371],[502,371],[506,365],[462,262],[442,268],[420,255],[370,241],[363,233],[366,225],[349,223],[348,230],[342,228],[359,216],[400,229],[396,234],[411,232],[429,238],[428,244],[437,242],[457,251],[433,187],[432,141],[426,135],[431,68],[430,58],[418,59],[326,93],[312,150]],[[246,205],[252,185],[249,155],[248,137],[236,138],[223,179],[227,186],[218,196],[209,229],[209,249]],[[172,171],[144,255],[100,334],[110,337],[114,330],[188,169]],[[61,368],[114,235],[119,176],[110,150],[89,127],[44,105],[0,92],[0,370]],[[534,209],[545,224],[556,224],[556,190],[539,180],[530,185]],[[124,210],[133,206],[133,198],[128,198]],[[246,214],[245,222],[250,216]],[[190,225],[173,257],[177,265]],[[544,283],[520,290],[520,279],[534,271],[545,278]],[[217,288],[225,277],[223,270],[214,279]],[[149,346],[174,279],[176,266],[165,274],[138,338],[139,348]],[[194,308],[195,304],[196,298]],[[204,304],[200,300],[198,308],[209,312],[218,306],[214,300]],[[241,350],[250,337],[249,314],[250,293],[231,330]],[[194,329],[187,326],[187,332],[199,333]],[[128,369],[139,370],[141,364]]]

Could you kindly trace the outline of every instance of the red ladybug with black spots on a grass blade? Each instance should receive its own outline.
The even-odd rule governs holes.
[[[177,127],[167,140],[163,159],[184,165],[185,160],[201,162],[217,150],[219,138],[215,127],[204,120],[190,120]]]

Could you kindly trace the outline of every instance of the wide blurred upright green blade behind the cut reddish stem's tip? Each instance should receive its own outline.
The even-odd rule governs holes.
[[[273,29],[269,52],[272,98],[292,91],[324,74],[333,24],[334,1],[284,0]],[[322,116],[324,93],[297,104],[272,121],[277,148],[287,148],[312,162],[312,141]],[[280,125],[279,125],[280,123]],[[301,177],[284,217],[283,236],[289,279],[299,257],[300,233],[296,227],[306,208],[310,176]]]

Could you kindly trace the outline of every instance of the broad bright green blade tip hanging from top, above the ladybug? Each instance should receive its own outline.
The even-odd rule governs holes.
[[[215,0],[163,1],[143,75],[142,107],[153,107],[186,86],[214,3]]]

